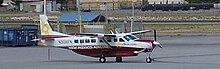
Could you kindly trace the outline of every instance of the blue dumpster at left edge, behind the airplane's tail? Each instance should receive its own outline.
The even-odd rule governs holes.
[[[0,46],[35,46],[38,39],[37,28],[0,29]],[[37,26],[36,26],[37,27]]]

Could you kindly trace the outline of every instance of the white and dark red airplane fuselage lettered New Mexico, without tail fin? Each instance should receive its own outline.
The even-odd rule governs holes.
[[[149,52],[154,48],[153,40],[140,40],[133,35],[114,38],[99,38],[90,36],[68,36],[47,39],[49,46],[72,50],[78,54],[100,57],[137,56],[139,52]]]

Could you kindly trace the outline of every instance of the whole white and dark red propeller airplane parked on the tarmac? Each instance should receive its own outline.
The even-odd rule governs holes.
[[[116,62],[122,62],[122,57],[137,56],[146,53],[146,62],[151,63],[151,52],[160,46],[155,40],[143,40],[135,36],[151,32],[150,30],[121,34],[85,33],[68,35],[53,31],[46,15],[40,15],[42,42],[48,46],[65,48],[78,54],[99,58],[106,62],[106,57],[116,57]]]

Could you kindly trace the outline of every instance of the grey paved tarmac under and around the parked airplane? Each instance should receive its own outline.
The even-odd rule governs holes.
[[[76,54],[72,51],[48,47],[0,47],[0,69],[219,69],[220,36],[159,37],[163,48],[152,53],[153,62],[146,63],[146,54],[124,57],[116,63],[107,58]]]

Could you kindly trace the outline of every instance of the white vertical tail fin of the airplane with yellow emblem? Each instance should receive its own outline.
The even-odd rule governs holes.
[[[51,25],[48,22],[48,18],[46,15],[40,15],[40,32],[42,38],[60,38],[60,37],[67,37],[70,35],[59,33],[53,31]]]

